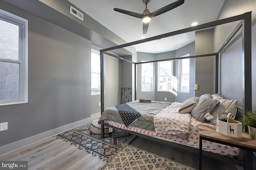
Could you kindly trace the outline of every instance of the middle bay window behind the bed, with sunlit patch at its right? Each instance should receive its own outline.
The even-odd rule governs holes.
[[[158,62],[158,91],[177,93],[177,79],[172,75],[172,61]]]

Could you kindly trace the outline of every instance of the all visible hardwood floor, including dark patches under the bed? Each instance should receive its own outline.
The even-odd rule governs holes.
[[[130,145],[198,169],[198,154],[172,148],[142,137],[136,137]],[[80,150],[78,146],[70,145],[70,142],[57,139],[56,137],[50,137],[44,141],[1,156],[0,160],[28,161],[28,170],[98,170],[100,166],[106,163],[106,160],[103,161],[98,156],[92,156],[86,150]],[[205,157],[202,169],[236,170],[236,167],[227,162]]]

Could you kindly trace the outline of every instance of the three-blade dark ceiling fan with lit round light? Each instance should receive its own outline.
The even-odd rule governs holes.
[[[152,13],[149,12],[147,6],[150,2],[150,0],[142,0],[143,4],[146,5],[146,9],[142,14],[136,13],[136,12],[131,12],[131,11],[126,11],[122,10],[119,8],[114,8],[115,11],[121,12],[123,14],[129,15],[129,16],[134,16],[136,18],[142,19],[143,22],[143,34],[146,34],[148,32],[148,23],[151,20],[151,18],[158,16],[160,14],[163,14],[165,12],[168,12],[184,3],[184,0],[178,0],[176,2],[173,2],[172,4],[166,5],[163,8],[160,8]]]

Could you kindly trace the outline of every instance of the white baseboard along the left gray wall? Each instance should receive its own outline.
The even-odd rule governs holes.
[[[34,143],[37,143],[39,141],[42,141],[42,140],[47,139],[49,137],[52,137],[54,135],[58,135],[59,133],[62,133],[64,131],[68,131],[70,129],[73,129],[75,127],[83,125],[85,123],[89,123],[91,121],[92,121],[92,117],[89,117],[89,118],[86,118],[86,119],[83,119],[83,120],[80,120],[80,121],[76,121],[74,123],[70,123],[68,125],[64,125],[62,127],[58,127],[56,129],[52,129],[50,131],[40,133],[38,135],[34,135],[32,137],[28,137],[26,139],[22,139],[20,141],[9,143],[7,145],[4,145],[4,146],[0,147],[0,156],[3,156],[3,155],[8,154],[10,152],[16,151],[18,149],[22,149],[24,147],[27,147],[29,145],[32,145]]]

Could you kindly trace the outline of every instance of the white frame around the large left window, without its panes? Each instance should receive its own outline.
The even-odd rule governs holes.
[[[22,25],[22,27],[19,27],[19,33],[21,33],[19,34],[20,61],[16,62],[12,60],[1,59],[1,61],[6,61],[10,63],[20,63],[20,99],[1,101],[0,106],[28,103],[28,20],[1,9],[0,17],[8,21],[11,21],[16,25]]]

